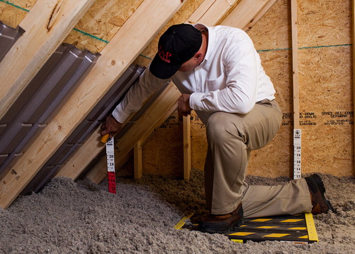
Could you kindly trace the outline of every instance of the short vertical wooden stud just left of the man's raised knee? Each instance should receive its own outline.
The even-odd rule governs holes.
[[[191,132],[190,116],[183,117],[184,134],[184,179],[190,179],[191,171]]]

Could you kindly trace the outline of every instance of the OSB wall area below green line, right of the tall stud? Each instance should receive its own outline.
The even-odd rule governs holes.
[[[304,172],[353,175],[350,46],[299,50]]]

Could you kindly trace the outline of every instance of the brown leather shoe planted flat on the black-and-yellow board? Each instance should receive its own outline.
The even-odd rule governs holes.
[[[244,223],[241,202],[231,213],[214,215],[208,214],[198,222],[198,230],[208,233],[226,233],[233,227],[240,227]]]

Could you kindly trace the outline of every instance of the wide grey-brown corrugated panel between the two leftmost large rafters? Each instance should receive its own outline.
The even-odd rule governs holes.
[[[50,122],[98,56],[70,44],[58,47],[0,120],[5,126],[0,133],[0,174],[15,163],[31,140]]]

